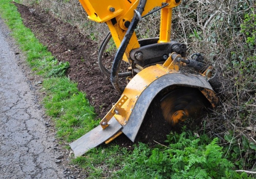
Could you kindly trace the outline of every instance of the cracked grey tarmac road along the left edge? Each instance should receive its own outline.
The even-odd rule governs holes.
[[[55,163],[57,141],[9,33],[0,18],[0,178],[65,178]]]

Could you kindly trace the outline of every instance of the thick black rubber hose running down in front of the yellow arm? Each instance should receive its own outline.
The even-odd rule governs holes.
[[[144,11],[144,7],[146,5],[147,0],[140,0],[139,5],[137,7],[137,11],[142,14]],[[112,64],[112,69],[111,69],[111,75],[110,75],[110,81],[114,88],[119,92],[122,93],[124,91],[124,87],[119,84],[119,79],[118,79],[118,71],[121,65],[121,59],[124,56],[124,52],[127,48],[127,45],[132,37],[132,34],[137,27],[137,24],[139,22],[138,15],[136,12],[134,13],[134,16],[132,18],[131,24],[128,27],[127,32],[125,33],[125,36],[117,50],[116,56],[114,58],[113,64]]]

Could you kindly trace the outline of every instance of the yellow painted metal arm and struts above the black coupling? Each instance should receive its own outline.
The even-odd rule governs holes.
[[[126,21],[131,22],[134,9],[137,8],[139,0],[101,0],[100,4],[96,0],[79,1],[87,12],[89,19],[99,23],[106,22],[118,48],[127,31],[127,27],[124,26],[124,23]],[[176,3],[175,0],[147,0],[142,16],[146,15],[154,7],[162,6],[162,3],[169,3],[169,5],[162,9],[159,43],[170,41],[172,8],[179,5],[180,2]],[[112,10],[110,10],[111,8]],[[116,21],[111,21],[113,18],[115,18]],[[131,63],[131,61],[129,61],[129,53],[132,49],[139,47],[136,34],[133,33],[127,49],[125,50],[123,60]]]

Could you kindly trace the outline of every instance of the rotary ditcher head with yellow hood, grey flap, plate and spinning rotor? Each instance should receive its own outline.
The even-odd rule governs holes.
[[[163,116],[171,124],[197,113],[205,103],[212,107],[218,104],[218,97],[205,76],[166,70],[161,65],[149,66],[132,78],[98,127],[70,144],[75,157],[121,133],[134,142],[152,100],[170,86],[180,87],[161,100]]]

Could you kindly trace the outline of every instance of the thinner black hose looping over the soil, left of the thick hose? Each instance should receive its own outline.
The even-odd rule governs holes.
[[[112,35],[110,32],[106,35],[106,37],[103,39],[101,46],[99,46],[99,52],[98,52],[98,64],[99,64],[99,69],[101,70],[102,73],[104,73],[106,76],[110,76],[111,72],[105,68],[105,66],[102,64],[102,55],[104,53],[104,50],[106,49],[106,46],[108,45],[109,40],[111,39]],[[127,76],[132,76],[132,72],[124,72],[124,73],[118,73],[118,77],[127,77]]]

